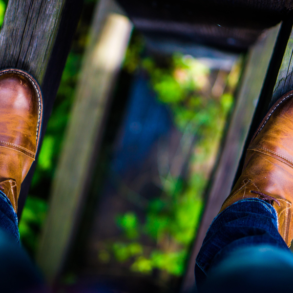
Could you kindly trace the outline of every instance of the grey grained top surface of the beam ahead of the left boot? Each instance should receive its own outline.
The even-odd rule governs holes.
[[[0,32],[0,68],[24,69],[42,84],[64,3],[65,0],[8,2]]]

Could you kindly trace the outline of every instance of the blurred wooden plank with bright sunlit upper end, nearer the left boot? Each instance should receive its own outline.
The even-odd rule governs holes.
[[[49,282],[62,269],[75,234],[131,29],[113,0],[99,2],[37,255]]]

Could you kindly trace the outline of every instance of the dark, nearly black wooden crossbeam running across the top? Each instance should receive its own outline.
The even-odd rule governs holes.
[[[285,0],[118,0],[135,27],[149,39],[201,43],[246,51],[266,28],[293,8]]]

